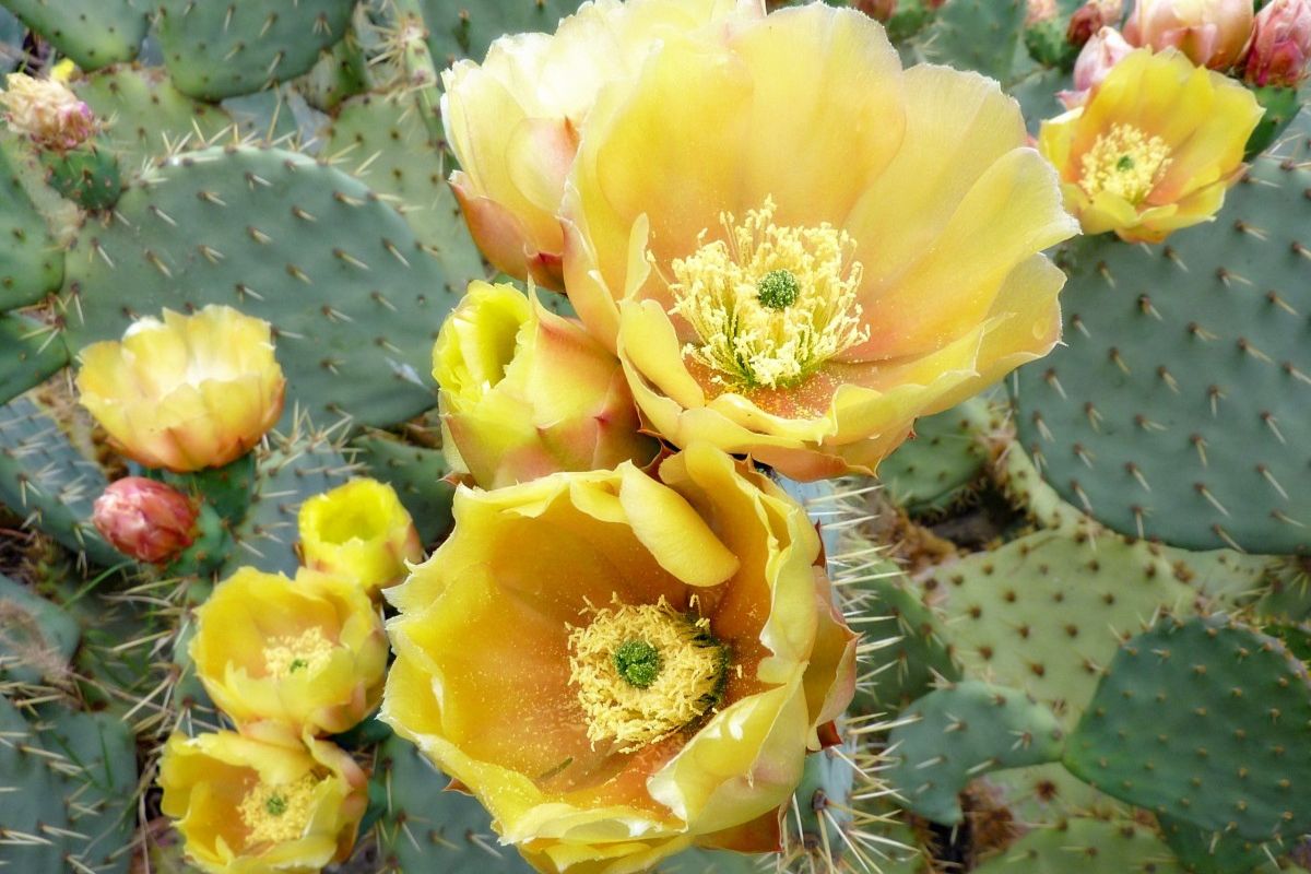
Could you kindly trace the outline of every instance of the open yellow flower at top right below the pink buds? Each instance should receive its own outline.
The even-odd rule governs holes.
[[[1261,111],[1245,88],[1179,52],[1138,50],[1082,107],[1042,122],[1038,148],[1086,233],[1160,242],[1219,211]]]

